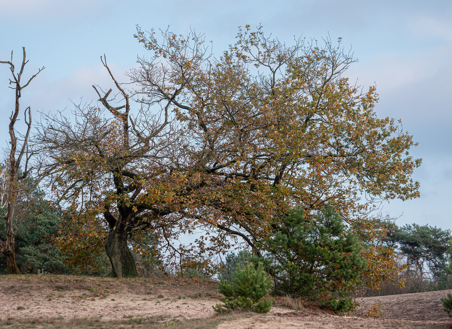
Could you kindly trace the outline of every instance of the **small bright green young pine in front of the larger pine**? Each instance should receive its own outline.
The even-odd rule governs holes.
[[[271,278],[266,277],[263,264],[259,263],[257,269],[250,262],[238,265],[232,281],[226,281],[219,275],[219,291],[225,296],[221,299],[224,305],[212,306],[218,313],[231,310],[244,310],[256,313],[267,313],[272,300],[265,300],[272,287]]]

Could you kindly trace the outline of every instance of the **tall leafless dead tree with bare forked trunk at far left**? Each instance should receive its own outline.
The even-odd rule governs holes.
[[[8,158],[8,164],[9,164],[9,172],[7,175],[7,181],[8,181],[8,192],[7,192],[7,201],[8,201],[8,212],[5,215],[5,219],[7,221],[6,225],[6,240],[3,241],[0,239],[0,251],[5,255],[6,257],[6,263],[8,265],[8,272],[9,274],[19,274],[19,268],[16,264],[16,258],[14,255],[14,206],[16,204],[16,199],[20,193],[20,181],[23,180],[25,177],[27,177],[28,173],[32,169],[31,167],[28,167],[28,160],[30,159],[31,154],[28,151],[28,136],[30,134],[31,129],[31,109],[30,106],[28,106],[24,111],[24,120],[25,124],[27,125],[27,132],[22,135],[22,145],[19,145],[18,149],[18,137],[16,136],[16,131],[14,129],[14,124],[18,120],[19,116],[19,99],[22,96],[22,89],[24,89],[30,81],[33,80],[35,76],[38,75],[39,72],[41,72],[44,67],[38,70],[38,73],[33,75],[28,79],[28,81],[22,85],[21,84],[21,77],[22,73],[24,72],[25,64],[28,63],[28,61],[25,59],[25,48],[22,47],[24,52],[24,57],[22,59],[22,65],[20,67],[20,71],[14,72],[14,64],[13,64],[13,52],[11,52],[11,61],[0,61],[0,63],[9,64],[9,69],[11,70],[12,79],[9,79],[9,84],[13,84],[14,87],[9,87],[11,89],[14,89],[16,92],[16,99],[15,99],[15,106],[14,110],[11,113],[11,116],[9,117],[9,158]],[[20,134],[19,134],[20,135]],[[19,167],[20,163],[22,162],[22,159],[25,158],[25,165],[24,170],[21,172],[22,174],[19,176]]]

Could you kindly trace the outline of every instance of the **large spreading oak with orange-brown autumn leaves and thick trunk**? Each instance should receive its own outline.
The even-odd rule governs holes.
[[[71,262],[105,246],[112,275],[134,276],[131,247],[164,271],[211,275],[233,245],[261,256],[289,210],[309,219],[330,204],[366,244],[367,277],[391,277],[372,210],[419,196],[410,176],[420,160],[400,123],[377,117],[375,87],[344,76],[356,60],[340,40],[286,46],[246,26],[214,57],[194,33],[135,37],[149,59],[129,73],[134,90],[103,58],[121,99],[96,86],[103,109],[44,116],[35,136],[40,175],[71,209],[57,241]],[[187,234],[192,242],[180,243]]]

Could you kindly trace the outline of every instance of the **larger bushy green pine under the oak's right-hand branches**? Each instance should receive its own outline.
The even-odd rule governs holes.
[[[344,312],[353,307],[349,292],[367,263],[356,234],[346,228],[334,207],[312,218],[295,209],[261,246],[264,266],[282,295],[316,300]]]

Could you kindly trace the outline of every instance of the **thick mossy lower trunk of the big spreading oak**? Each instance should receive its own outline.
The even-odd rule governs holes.
[[[105,252],[112,265],[111,277],[137,277],[137,266],[127,246],[125,229],[112,229],[105,242]]]

